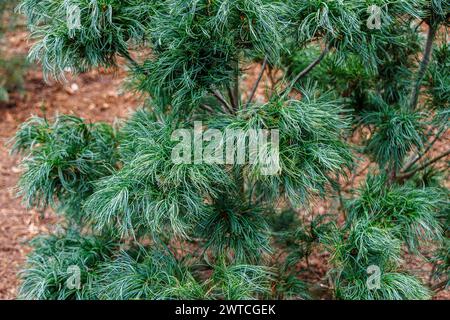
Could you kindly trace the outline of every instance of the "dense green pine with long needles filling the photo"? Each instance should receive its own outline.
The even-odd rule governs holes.
[[[431,152],[448,130],[448,1],[23,0],[19,10],[47,76],[125,61],[127,87],[146,97],[118,126],[59,115],[19,128],[19,195],[64,217],[32,242],[21,298],[428,299],[448,285],[449,151]],[[187,150],[217,150],[231,130],[249,146],[267,130],[277,144],[262,150],[278,159],[173,161],[174,132],[192,138],[196,122],[214,138]],[[374,165],[352,189],[345,178],[365,174],[364,157]],[[308,209],[318,199],[328,212]],[[329,267],[315,281],[302,276],[314,252]],[[408,270],[407,255],[433,274]]]

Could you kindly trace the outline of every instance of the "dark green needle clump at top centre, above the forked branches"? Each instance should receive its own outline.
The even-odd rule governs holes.
[[[152,56],[138,68],[138,89],[174,107],[190,106],[239,76],[243,50],[276,62],[285,8],[262,0],[169,0],[152,17]]]

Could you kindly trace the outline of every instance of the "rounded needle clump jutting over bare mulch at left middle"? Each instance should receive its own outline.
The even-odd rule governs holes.
[[[94,181],[111,174],[118,161],[113,127],[69,115],[30,118],[12,150],[26,156],[18,190],[27,206],[51,206],[76,219],[83,219]]]

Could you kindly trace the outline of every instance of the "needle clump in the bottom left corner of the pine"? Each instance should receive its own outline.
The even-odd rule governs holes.
[[[35,250],[20,273],[19,298],[33,300],[96,299],[93,288],[100,264],[117,248],[112,239],[75,230],[41,236],[32,246]]]

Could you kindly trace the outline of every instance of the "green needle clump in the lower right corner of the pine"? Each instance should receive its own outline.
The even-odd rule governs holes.
[[[436,188],[386,186],[383,176],[369,176],[347,205],[347,223],[328,234],[336,266],[336,295],[343,299],[427,299],[430,292],[402,270],[402,245],[417,252],[438,241],[439,209],[445,203]],[[379,287],[367,285],[371,266],[379,268]]]

